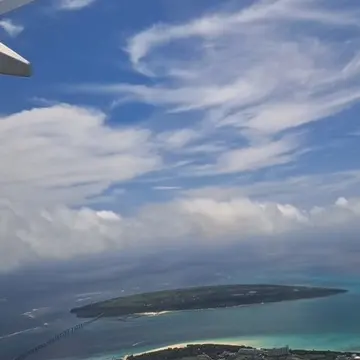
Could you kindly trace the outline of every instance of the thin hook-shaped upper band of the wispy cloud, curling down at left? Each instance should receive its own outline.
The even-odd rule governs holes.
[[[344,11],[334,13],[327,9],[316,9],[311,5],[306,0],[260,1],[235,14],[211,14],[185,24],[153,26],[130,39],[128,52],[131,61],[136,66],[153,48],[168,42],[190,37],[214,38],[234,32],[238,26],[241,26],[245,32],[247,25],[260,24],[264,21],[304,21],[331,26],[358,26],[358,13]]]

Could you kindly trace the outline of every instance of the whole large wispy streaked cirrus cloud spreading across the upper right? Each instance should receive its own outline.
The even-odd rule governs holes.
[[[306,131],[314,122],[358,102],[359,19],[358,9],[333,1],[270,0],[157,24],[127,41],[134,70],[151,82],[76,89],[151,104],[169,122],[176,114],[184,125],[158,139],[200,172],[286,164],[312,149]],[[336,38],[328,36],[334,27]],[[300,131],[301,143],[280,149],[285,132]]]

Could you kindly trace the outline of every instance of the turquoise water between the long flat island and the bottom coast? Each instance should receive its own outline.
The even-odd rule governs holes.
[[[126,335],[115,335],[114,341],[122,342],[122,347],[98,358],[108,359],[111,355],[205,341],[256,347],[289,345],[292,348],[360,351],[359,285],[349,280],[341,286],[335,279],[323,279],[324,283],[346,287],[349,293],[325,299],[178,312],[141,319],[132,325],[127,324],[126,332],[131,333],[136,342],[126,343]],[[96,327],[100,332],[112,332],[109,325],[98,323]]]

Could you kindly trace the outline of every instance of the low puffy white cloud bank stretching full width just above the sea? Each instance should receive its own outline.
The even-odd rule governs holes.
[[[0,270],[39,260],[153,247],[223,246],[285,236],[288,242],[306,231],[359,231],[359,199],[301,209],[292,204],[234,197],[183,197],[144,206],[132,216],[90,208],[24,210],[2,202]]]

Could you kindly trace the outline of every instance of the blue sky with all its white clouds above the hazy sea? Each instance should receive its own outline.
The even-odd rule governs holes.
[[[0,81],[0,268],[358,231],[359,23],[335,0],[39,0],[4,16],[34,76]]]

